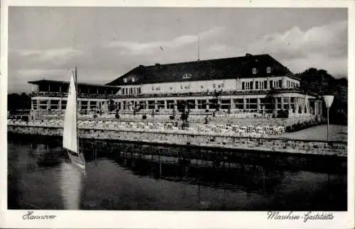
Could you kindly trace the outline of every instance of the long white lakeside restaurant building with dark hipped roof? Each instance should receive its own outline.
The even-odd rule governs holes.
[[[68,82],[29,82],[32,109],[64,109]],[[105,85],[78,84],[79,108],[116,104],[120,112],[174,110],[188,101],[195,111],[322,113],[322,103],[302,92],[300,78],[270,55],[174,64],[140,65]]]

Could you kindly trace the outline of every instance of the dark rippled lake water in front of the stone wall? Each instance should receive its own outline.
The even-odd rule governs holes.
[[[82,172],[59,143],[9,138],[8,208],[346,211],[344,173],[263,163],[221,166],[213,160],[160,157],[163,147],[127,143],[115,150],[89,147]]]

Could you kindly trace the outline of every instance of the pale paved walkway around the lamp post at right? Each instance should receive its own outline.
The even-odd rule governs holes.
[[[327,125],[317,125],[294,133],[285,133],[281,138],[300,140],[327,140]],[[348,141],[348,127],[346,125],[329,125],[329,140]]]

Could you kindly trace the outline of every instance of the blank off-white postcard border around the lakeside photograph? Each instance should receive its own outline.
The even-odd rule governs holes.
[[[9,6],[165,6],[165,7],[267,7],[348,8],[348,211],[333,212],[333,220],[268,220],[260,211],[35,211],[55,215],[55,220],[23,220],[27,211],[7,210],[7,57]],[[0,228],[354,228],[354,35],[355,1],[212,1],[212,0],[4,0],[1,1],[1,89],[0,89]],[[75,214],[73,214],[75,213]],[[303,214],[302,212],[300,214]]]

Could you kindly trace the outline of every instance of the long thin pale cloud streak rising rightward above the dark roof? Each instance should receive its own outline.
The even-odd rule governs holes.
[[[186,45],[197,43],[198,37],[200,40],[212,38],[214,36],[222,34],[224,28],[217,27],[204,31],[199,35],[181,35],[173,40],[160,40],[149,43],[136,43],[127,41],[114,41],[107,45],[108,48],[121,48],[121,55],[148,55],[154,52],[154,50],[164,49],[176,49],[182,48]]]

